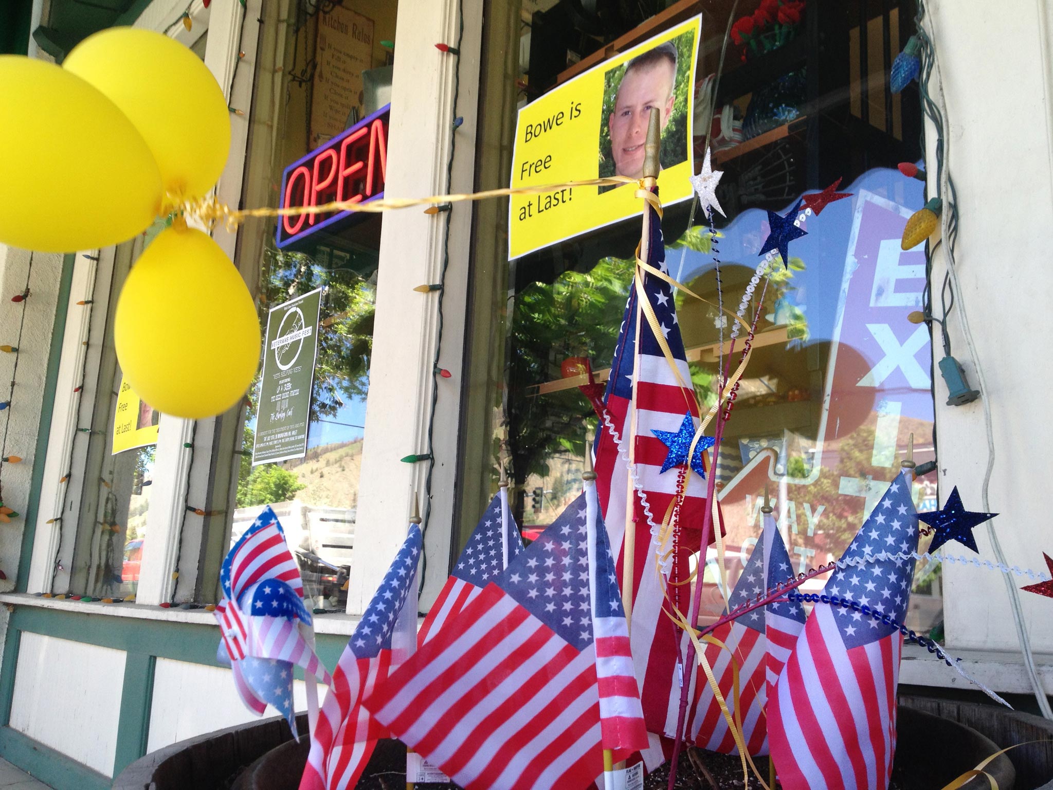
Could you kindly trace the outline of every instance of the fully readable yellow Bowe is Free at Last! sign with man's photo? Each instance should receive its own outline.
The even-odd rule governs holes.
[[[661,113],[663,204],[687,200],[694,175],[692,117],[701,33],[696,17],[553,88],[519,111],[512,186],[639,178],[652,107]],[[636,187],[573,186],[509,202],[509,258],[638,215]]]

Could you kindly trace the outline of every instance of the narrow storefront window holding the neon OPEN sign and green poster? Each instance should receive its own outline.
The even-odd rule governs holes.
[[[249,202],[317,205],[382,194],[393,71],[388,42],[396,13],[395,3],[371,0],[264,8]],[[271,506],[314,607],[344,608],[381,221],[380,215],[322,214],[252,223],[241,232],[237,263],[257,296],[269,340],[244,403],[221,418],[221,442],[230,442],[233,461],[217,474],[211,499],[215,508],[225,498],[233,517],[213,517],[230,526],[222,545],[212,548],[213,579],[226,549]]]

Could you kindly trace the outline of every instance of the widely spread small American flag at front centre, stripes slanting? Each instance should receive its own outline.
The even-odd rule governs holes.
[[[581,495],[365,699],[392,733],[468,790],[573,790],[602,773],[609,733],[600,724],[592,576],[598,609],[617,612],[618,596],[613,558],[597,559],[603,579],[590,567],[587,515]],[[602,532],[597,518],[597,538]],[[595,551],[609,549],[597,540]],[[622,655],[623,644],[610,650]],[[621,682],[602,693],[631,698]],[[645,746],[641,733],[627,726],[615,759]]]

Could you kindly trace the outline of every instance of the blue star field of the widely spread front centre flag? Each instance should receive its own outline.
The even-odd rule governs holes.
[[[587,514],[585,495],[581,494],[494,579],[577,650],[593,639]],[[598,524],[597,532],[600,530],[604,528]],[[617,591],[617,578],[614,585]],[[620,594],[615,597],[620,600]]]

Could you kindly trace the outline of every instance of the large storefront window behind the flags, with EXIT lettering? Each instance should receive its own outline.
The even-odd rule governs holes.
[[[535,13],[522,32],[531,57],[520,63],[520,103],[602,62],[601,42],[568,37],[563,28],[575,22],[559,22],[562,5]],[[809,3],[796,21],[782,20],[781,36],[733,35],[720,66],[728,6],[703,13],[694,125],[696,171],[709,144],[714,170],[723,173],[716,194],[727,217],[716,215],[711,234],[690,202],[667,206],[670,276],[734,311],[761,260],[768,211],[802,213],[803,194],[838,180],[837,191],[851,197],[821,215],[801,214],[808,235],[791,244],[788,266],[776,264],[763,296],[758,289],[749,300],[748,320],[758,314],[753,354],[715,465],[724,562],[721,571],[709,550],[703,617],[723,609],[720,588],[735,584],[756,542],[766,481],[796,573],[840,556],[898,472],[909,437],[917,463],[934,457],[930,333],[909,319],[928,298],[927,257],[920,246],[900,249],[908,217],[925,203],[922,182],[897,170],[920,159],[920,117],[915,87],[889,88],[913,5]],[[735,19],[757,6],[737,4]],[[687,12],[661,24],[636,20],[610,39],[623,51],[684,18]],[[554,50],[574,50],[581,62],[554,64]],[[497,112],[491,97],[483,106],[493,101]],[[500,118],[492,129],[511,145],[514,124]],[[500,281],[493,290],[506,331],[474,335],[470,358],[504,360],[500,370],[491,366],[484,418],[491,448],[506,450],[516,516],[534,528],[530,534],[550,524],[580,485],[583,442],[596,419],[578,390],[561,381],[561,369],[588,359],[603,380],[639,236],[636,219],[509,261],[506,291]],[[712,404],[728,362],[730,322],[682,293],[676,303],[693,383]],[[914,494],[918,510],[935,507],[934,482],[919,478]],[[474,495],[463,502],[462,535],[482,505]],[[907,625],[939,635],[938,570],[917,576],[914,592]]]

